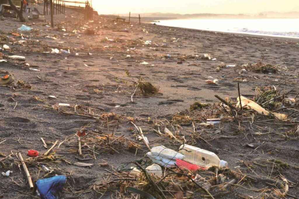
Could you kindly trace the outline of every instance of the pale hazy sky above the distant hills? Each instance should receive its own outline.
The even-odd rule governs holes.
[[[299,12],[299,0],[92,0],[92,5],[99,14]]]

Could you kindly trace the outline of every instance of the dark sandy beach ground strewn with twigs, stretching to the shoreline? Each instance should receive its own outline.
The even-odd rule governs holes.
[[[47,149],[43,147],[41,137],[48,148],[56,140],[61,144],[52,151],[55,152],[54,160],[47,162],[47,166],[53,169],[50,174],[41,169],[39,162],[45,160],[28,160],[33,181],[55,174],[66,175],[68,180],[60,193],[61,198],[100,198],[102,195],[102,198],[120,198],[117,196],[120,193],[131,198],[132,195],[121,188],[125,181],[106,192],[95,188],[113,177],[106,170],[127,172],[134,165],[126,163],[146,160],[147,147],[136,140],[138,132],[131,122],[142,128],[150,147],[163,144],[179,149],[180,142],[158,136],[156,131],[164,132],[167,127],[182,142],[184,136],[188,144],[215,152],[227,161],[229,169],[221,172],[229,179],[233,179],[231,170],[237,172],[239,180],[249,177],[238,180],[239,186],[233,189],[211,190],[214,198],[271,198],[274,189],[283,190],[280,175],[289,182],[288,194],[298,197],[299,130],[298,114],[293,114],[298,108],[295,107],[297,101],[294,107],[279,111],[291,115],[288,121],[256,113],[246,115],[248,113],[243,110],[236,111],[244,114],[242,118],[237,114],[238,122],[230,117],[213,127],[204,127],[200,123],[227,114],[221,112],[221,108],[217,109],[220,101],[215,95],[237,102],[238,82],[242,96],[251,99],[257,95],[257,87],[265,86],[274,86],[283,97],[297,97],[299,39],[149,23],[139,25],[137,21],[115,22],[115,18],[103,16],[95,16],[88,22],[83,20],[82,14],[71,10],[54,18],[55,27],[52,29],[49,16],[45,16],[46,22],[26,23],[1,17],[0,44],[8,45],[10,49],[2,51],[3,58],[0,59],[7,62],[0,62],[0,75],[12,74],[15,85],[0,87],[0,160],[4,158],[0,172],[13,171],[10,177],[1,176],[0,198],[31,198],[17,191],[30,194],[26,176],[22,166],[19,169],[15,154],[19,151],[27,159],[29,149],[45,153]],[[22,24],[33,29],[28,32],[17,30]],[[94,30],[95,34],[87,34],[87,29]],[[56,48],[70,50],[70,53],[51,53]],[[211,59],[204,54],[210,54]],[[25,56],[25,60],[10,59],[12,55]],[[275,73],[250,69],[251,64],[259,62],[275,66]],[[140,78],[159,88],[159,92],[144,96],[137,90],[132,102],[131,96]],[[208,79],[219,81],[208,84]],[[56,98],[50,99],[50,95]],[[194,114],[189,110],[194,102],[209,103],[210,106]],[[61,107],[59,103],[70,106]],[[278,108],[281,107],[274,109]],[[230,113],[231,110],[227,111]],[[174,119],[177,115],[190,119],[178,122]],[[108,139],[110,134],[123,136],[140,147],[128,150],[125,142],[129,141],[123,140],[123,144],[119,141],[114,150],[99,149],[95,152],[94,146],[82,143],[83,155],[90,158],[84,162],[93,166],[78,167],[72,163],[83,158],[78,154],[76,136],[77,131],[83,129],[90,135],[108,135]],[[254,147],[248,148],[248,144]],[[13,160],[5,158],[9,155]],[[147,166],[148,161],[144,161],[143,166]],[[211,169],[201,175],[208,179],[214,172]],[[280,181],[275,184],[277,179]],[[201,195],[205,194],[195,192],[192,198],[201,198]]]

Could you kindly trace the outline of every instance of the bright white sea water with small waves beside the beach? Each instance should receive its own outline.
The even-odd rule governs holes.
[[[299,19],[175,19],[157,25],[299,39]]]

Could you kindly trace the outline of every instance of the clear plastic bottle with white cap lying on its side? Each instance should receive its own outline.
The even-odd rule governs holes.
[[[225,168],[228,165],[226,161],[220,160],[215,153],[195,146],[183,144],[181,145],[179,152],[185,156],[183,159],[184,161],[203,166],[207,169],[212,166]]]

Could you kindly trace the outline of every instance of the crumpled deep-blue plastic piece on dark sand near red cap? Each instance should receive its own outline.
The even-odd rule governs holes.
[[[56,193],[60,192],[65,185],[66,177],[57,175],[36,181],[37,190],[42,199],[57,199]]]

